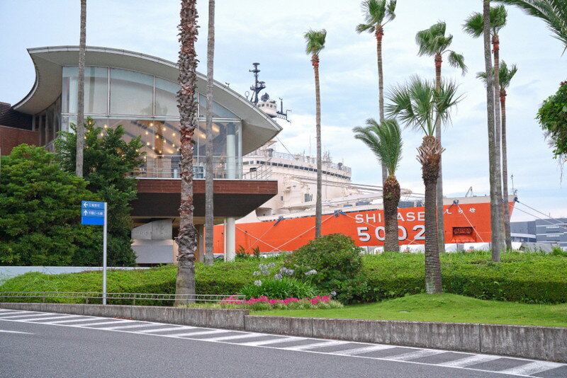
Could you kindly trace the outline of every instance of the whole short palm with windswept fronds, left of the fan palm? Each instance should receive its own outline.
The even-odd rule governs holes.
[[[399,252],[398,242],[398,204],[400,203],[400,183],[395,178],[395,170],[402,159],[402,133],[398,121],[386,120],[380,124],[369,118],[366,127],[354,127],[354,137],[361,140],[374,152],[378,161],[388,170],[388,178],[383,185],[384,202],[384,251]]]

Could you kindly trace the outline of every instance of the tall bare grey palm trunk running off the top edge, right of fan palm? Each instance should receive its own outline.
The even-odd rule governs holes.
[[[500,181],[500,151],[496,149],[494,120],[494,79],[490,53],[490,0],[483,0],[484,64],[486,72],[486,108],[488,111],[488,166],[490,171],[490,229],[492,232],[492,259],[500,260],[502,249],[502,190]],[[499,191],[500,190],[500,191]]]

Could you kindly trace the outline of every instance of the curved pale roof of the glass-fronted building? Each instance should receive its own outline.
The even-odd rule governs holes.
[[[35,66],[35,84],[22,101],[13,109],[35,114],[51,105],[62,91],[62,67],[76,66],[79,62],[78,46],[35,47],[28,49]],[[177,64],[168,60],[127,50],[108,47],[86,47],[86,66],[116,67],[140,71],[170,81],[177,81]],[[197,90],[206,93],[207,78],[197,73]],[[281,131],[271,118],[247,101],[236,91],[215,81],[215,101],[242,119],[242,154],[248,154],[262,146]]]

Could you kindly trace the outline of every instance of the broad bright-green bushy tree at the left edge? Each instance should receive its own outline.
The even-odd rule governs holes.
[[[100,200],[86,181],[43,147],[21,144],[1,163],[0,263],[98,265],[101,228],[80,224],[81,200]]]

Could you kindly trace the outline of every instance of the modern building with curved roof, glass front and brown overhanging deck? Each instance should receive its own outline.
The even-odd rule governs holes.
[[[36,71],[33,88],[16,105],[0,104],[0,140],[6,144],[0,146],[3,155],[22,142],[52,149],[58,133],[71,130],[71,124],[77,122],[79,48],[39,47],[28,52]],[[158,57],[107,47],[87,47],[85,65],[85,117],[102,127],[102,134],[122,125],[126,140],[141,137],[144,144],[143,165],[130,173],[138,180],[138,199],[133,203],[137,262],[170,263],[174,261],[181,191],[176,100],[179,69]],[[201,225],[200,234],[205,215],[206,80],[198,74],[193,166],[195,222]],[[242,156],[269,141],[281,127],[217,81],[213,97],[214,216],[215,223],[228,225],[225,236],[230,257],[235,249],[230,245],[235,219],[277,193],[276,181],[242,177]],[[140,245],[143,248],[137,248]]]

